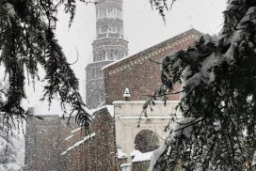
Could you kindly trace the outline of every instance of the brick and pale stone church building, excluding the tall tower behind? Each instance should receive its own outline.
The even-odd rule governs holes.
[[[152,110],[147,110],[147,117],[141,116],[147,95],[161,85],[159,62],[165,55],[187,48],[200,36],[200,32],[191,29],[104,66],[106,105],[91,110],[90,132],[81,131],[73,121],[67,126],[66,120],[56,116],[27,122],[24,170],[147,170],[151,151],[163,143],[168,123],[171,127],[172,114],[181,114],[173,110],[180,100],[176,94],[168,96],[167,105],[155,101]],[[174,91],[179,90],[180,85],[176,85]]]

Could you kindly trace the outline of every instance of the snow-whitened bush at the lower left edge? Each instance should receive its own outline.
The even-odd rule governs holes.
[[[6,81],[0,81],[0,107],[7,99],[7,87]],[[23,159],[20,159],[19,153],[24,150],[23,119],[16,116],[9,118],[0,112],[0,120],[0,170],[21,170]]]

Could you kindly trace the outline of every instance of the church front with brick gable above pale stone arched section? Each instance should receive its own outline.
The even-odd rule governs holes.
[[[167,126],[171,129],[173,125],[171,118],[182,115],[179,110],[175,110],[180,94],[168,96],[166,105],[164,101],[156,100],[142,113],[145,102],[161,85],[161,59],[175,51],[188,48],[201,35],[199,31],[190,29],[104,67],[105,101],[107,105],[114,105],[116,144],[127,154],[126,162],[133,163],[132,168],[139,166],[137,162],[144,161],[135,160],[130,155],[135,150],[147,153],[163,144],[168,135],[168,131],[165,132]],[[127,89],[129,99],[124,95]],[[174,86],[174,92],[180,90],[181,85]]]

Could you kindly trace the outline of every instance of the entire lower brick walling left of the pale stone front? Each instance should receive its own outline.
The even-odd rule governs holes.
[[[106,170],[118,168],[114,134],[114,119],[104,108],[94,113],[89,132],[79,129],[71,119],[42,116],[28,119],[25,134],[25,171]],[[77,130],[73,132],[73,130]],[[89,133],[95,136],[62,154]]]

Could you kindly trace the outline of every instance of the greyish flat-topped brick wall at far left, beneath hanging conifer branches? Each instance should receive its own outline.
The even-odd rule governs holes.
[[[24,170],[62,170],[61,148],[67,133],[75,129],[76,124],[58,116],[29,118],[25,132],[25,167]]]

